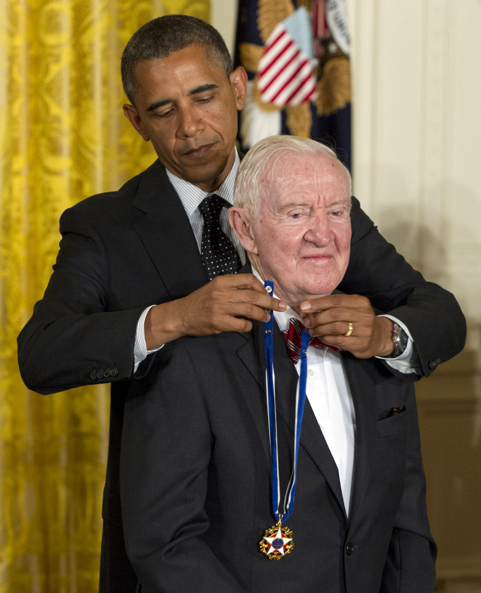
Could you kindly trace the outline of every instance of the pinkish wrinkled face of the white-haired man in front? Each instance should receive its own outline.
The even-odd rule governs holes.
[[[276,294],[296,308],[330,294],[342,280],[351,246],[351,196],[336,161],[285,155],[273,183],[260,188],[251,261]]]

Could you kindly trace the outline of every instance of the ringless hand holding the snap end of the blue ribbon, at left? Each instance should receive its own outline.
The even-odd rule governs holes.
[[[266,309],[285,311],[252,274],[216,276],[187,297],[152,307],[145,319],[145,343],[152,350],[181,336],[250,331],[250,319],[266,322]]]

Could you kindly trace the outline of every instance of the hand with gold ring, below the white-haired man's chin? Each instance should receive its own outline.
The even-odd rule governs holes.
[[[323,342],[349,350],[357,358],[388,356],[393,352],[393,323],[387,317],[377,317],[371,303],[359,295],[329,295],[305,301],[301,313],[306,315],[304,326],[311,336]],[[349,331],[352,324],[352,333]]]

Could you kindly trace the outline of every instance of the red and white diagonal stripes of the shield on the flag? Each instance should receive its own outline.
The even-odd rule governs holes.
[[[282,23],[267,39],[257,85],[261,100],[279,107],[299,105],[314,98],[314,68]]]

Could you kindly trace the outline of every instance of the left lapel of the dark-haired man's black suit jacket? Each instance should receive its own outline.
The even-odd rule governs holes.
[[[208,278],[189,219],[160,161],[141,176],[133,206],[133,221],[171,298],[184,297]]]

